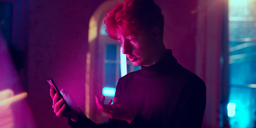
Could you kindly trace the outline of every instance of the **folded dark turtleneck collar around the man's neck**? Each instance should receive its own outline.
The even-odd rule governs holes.
[[[177,60],[172,55],[172,50],[167,50],[165,57],[154,65],[141,66],[141,72],[145,76],[156,76],[165,73],[165,71],[177,64]]]

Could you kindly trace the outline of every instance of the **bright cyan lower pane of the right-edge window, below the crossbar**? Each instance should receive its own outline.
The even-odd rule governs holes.
[[[233,109],[234,114],[229,117],[230,126],[232,128],[254,127],[254,122],[256,121],[256,89],[250,87],[230,87],[230,92],[232,93],[229,95],[229,103],[235,103],[236,105],[235,109]]]

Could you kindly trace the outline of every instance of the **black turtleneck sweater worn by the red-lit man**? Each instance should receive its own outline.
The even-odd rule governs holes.
[[[131,124],[109,119],[107,127],[202,126],[206,105],[205,84],[201,78],[179,65],[171,50],[154,65],[141,66],[141,70],[120,78],[115,97],[130,102],[138,114]],[[83,121],[78,119],[80,122],[77,124],[97,127],[85,115],[81,117]]]

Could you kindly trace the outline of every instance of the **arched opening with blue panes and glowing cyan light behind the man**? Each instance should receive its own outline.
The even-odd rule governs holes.
[[[120,51],[118,41],[109,38],[103,24],[107,12],[123,0],[109,0],[102,3],[89,22],[89,52],[86,59],[85,115],[95,123],[108,121],[108,116],[98,110],[94,95],[105,95],[106,102],[114,98],[115,87],[121,75],[121,63],[127,73],[138,70]],[[121,62],[121,56],[124,61]]]

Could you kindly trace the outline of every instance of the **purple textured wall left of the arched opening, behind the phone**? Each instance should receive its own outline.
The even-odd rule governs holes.
[[[53,113],[48,78],[70,92],[84,109],[88,24],[99,3],[29,1],[28,102],[37,127],[68,127],[67,119]]]

